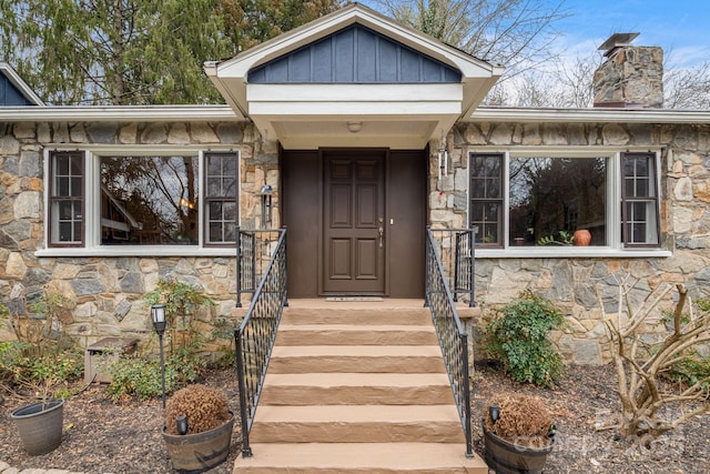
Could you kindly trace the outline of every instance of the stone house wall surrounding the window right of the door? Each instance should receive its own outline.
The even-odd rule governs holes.
[[[437,179],[437,157],[430,157],[429,206],[433,226],[466,226],[469,152],[481,147],[663,147],[661,169],[662,246],[669,258],[488,259],[476,260],[476,299],[483,310],[480,329],[523,290],[556,301],[569,330],[552,334],[566,360],[600,364],[610,357],[597,289],[613,313],[616,280],[640,280],[639,294],[662,283],[684,283],[693,295],[710,293],[710,128],[639,124],[463,123],[448,137],[454,171]],[[671,301],[663,303],[669,307]],[[645,327],[652,337],[662,325]],[[480,354],[478,347],[477,354]]]

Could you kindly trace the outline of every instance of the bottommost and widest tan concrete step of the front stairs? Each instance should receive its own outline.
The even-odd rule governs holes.
[[[252,451],[234,474],[488,474],[463,443],[264,443]]]

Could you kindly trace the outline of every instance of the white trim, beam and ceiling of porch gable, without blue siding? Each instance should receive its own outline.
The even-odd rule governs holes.
[[[460,72],[460,82],[253,83],[250,71],[358,24]],[[468,117],[503,73],[361,4],[288,31],[236,57],[206,62],[205,72],[227,103],[284,148],[392,147],[422,149]]]

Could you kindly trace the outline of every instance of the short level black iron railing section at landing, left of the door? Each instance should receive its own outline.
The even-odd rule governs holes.
[[[236,307],[242,295],[254,293],[281,236],[280,229],[236,230]]]

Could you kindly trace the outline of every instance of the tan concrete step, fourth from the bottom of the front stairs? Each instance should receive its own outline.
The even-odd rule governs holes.
[[[442,373],[438,345],[276,345],[268,372]]]

